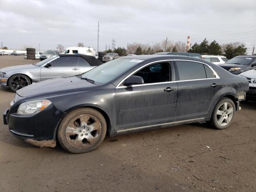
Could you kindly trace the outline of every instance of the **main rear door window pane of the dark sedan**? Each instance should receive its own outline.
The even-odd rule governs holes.
[[[204,64],[191,61],[176,61],[178,80],[205,79]]]

